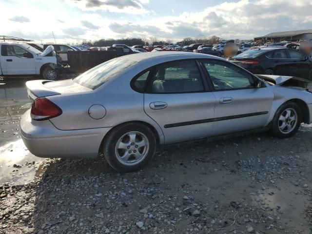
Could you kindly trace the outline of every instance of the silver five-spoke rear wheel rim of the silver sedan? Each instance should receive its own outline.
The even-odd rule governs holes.
[[[134,131],[119,138],[115,147],[115,154],[120,163],[133,166],[146,157],[148,150],[149,141],[147,137],[140,132]]]

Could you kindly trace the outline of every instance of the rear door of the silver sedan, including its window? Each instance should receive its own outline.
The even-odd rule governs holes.
[[[157,65],[148,78],[144,111],[163,131],[165,143],[208,137],[215,96],[195,60]]]

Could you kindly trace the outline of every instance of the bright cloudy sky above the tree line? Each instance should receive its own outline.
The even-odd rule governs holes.
[[[253,39],[312,29],[312,0],[0,0],[0,35],[37,42]]]

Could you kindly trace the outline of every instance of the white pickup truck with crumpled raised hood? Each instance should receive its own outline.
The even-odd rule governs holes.
[[[53,46],[40,52],[26,43],[0,42],[0,51],[0,76],[57,78],[57,58]]]

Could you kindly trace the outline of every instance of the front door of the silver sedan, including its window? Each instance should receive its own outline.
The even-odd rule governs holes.
[[[256,129],[268,123],[273,93],[265,83],[255,87],[252,74],[227,61],[205,59],[201,63],[216,99],[212,135]]]

